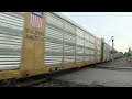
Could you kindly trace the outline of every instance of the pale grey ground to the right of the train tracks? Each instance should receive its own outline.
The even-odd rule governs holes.
[[[101,85],[105,87],[132,87],[132,62],[130,58],[123,57],[116,59],[114,67],[128,67],[128,70],[111,70],[103,69],[101,67],[110,66],[111,62],[99,64],[100,68],[87,67],[80,70],[76,70],[69,74],[65,74],[55,79],[67,80],[69,82],[76,82],[81,85]]]

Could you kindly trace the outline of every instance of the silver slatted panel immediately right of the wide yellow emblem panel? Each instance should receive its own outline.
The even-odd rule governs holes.
[[[63,63],[63,20],[48,13],[45,36],[45,65]]]

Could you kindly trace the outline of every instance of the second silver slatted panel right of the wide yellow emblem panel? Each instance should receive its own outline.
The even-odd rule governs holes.
[[[74,63],[76,47],[76,28],[68,22],[65,22],[64,43],[64,63]]]

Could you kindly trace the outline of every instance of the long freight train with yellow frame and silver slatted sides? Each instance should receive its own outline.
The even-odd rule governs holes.
[[[0,80],[108,61],[110,45],[58,12],[0,12]]]

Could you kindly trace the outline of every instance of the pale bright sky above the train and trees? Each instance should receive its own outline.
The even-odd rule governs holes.
[[[108,44],[114,36],[114,48],[128,52],[132,48],[132,12],[61,12],[86,30],[103,37]]]

